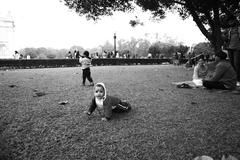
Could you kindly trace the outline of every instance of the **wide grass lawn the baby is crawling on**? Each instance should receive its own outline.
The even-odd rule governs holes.
[[[240,95],[172,84],[191,80],[192,72],[172,65],[93,67],[94,82],[133,107],[102,122],[97,112],[83,114],[93,88],[80,85],[80,68],[2,70],[0,159],[240,158]]]

